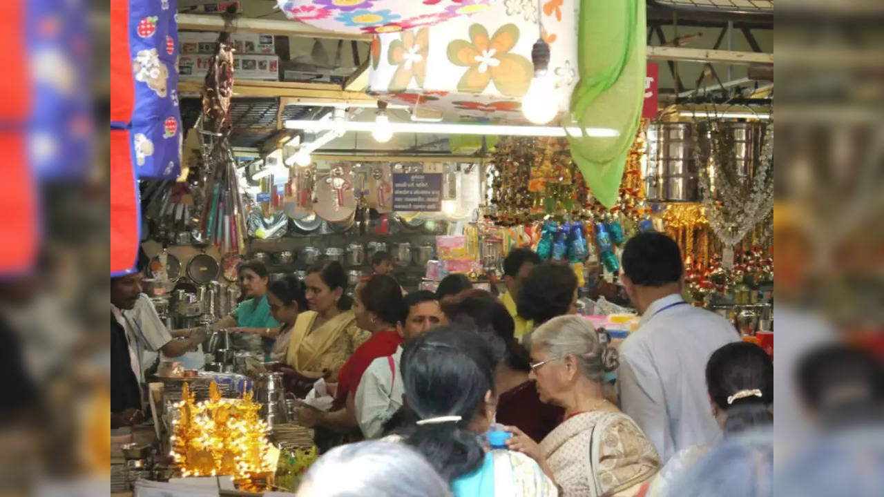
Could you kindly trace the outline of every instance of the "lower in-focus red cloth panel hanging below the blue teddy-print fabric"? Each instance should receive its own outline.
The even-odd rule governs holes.
[[[129,132],[110,130],[110,274],[135,267],[138,259],[138,193]]]

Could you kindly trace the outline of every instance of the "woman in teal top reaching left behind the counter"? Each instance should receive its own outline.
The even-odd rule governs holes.
[[[240,333],[240,336],[232,337],[234,348],[270,353],[279,333],[279,323],[271,315],[271,306],[267,302],[267,266],[261,261],[249,261],[240,264],[237,275],[248,299],[240,302],[230,316],[212,325],[212,329]]]

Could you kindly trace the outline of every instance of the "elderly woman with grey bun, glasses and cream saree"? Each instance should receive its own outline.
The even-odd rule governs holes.
[[[534,331],[530,377],[541,401],[565,409],[565,420],[539,445],[509,426],[508,443],[552,473],[560,495],[633,495],[659,470],[641,428],[603,394],[605,373],[616,367],[616,350],[583,317],[554,317]]]

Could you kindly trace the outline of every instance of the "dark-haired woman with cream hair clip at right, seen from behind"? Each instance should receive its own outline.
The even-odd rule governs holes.
[[[758,345],[736,341],[713,352],[706,363],[706,389],[712,416],[726,440],[773,424],[773,360]],[[676,452],[652,480],[647,495],[667,495],[674,481],[710,448],[694,446]]]

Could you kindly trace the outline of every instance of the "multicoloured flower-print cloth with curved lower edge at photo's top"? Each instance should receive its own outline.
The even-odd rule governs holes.
[[[503,0],[277,0],[289,19],[344,33],[395,33],[486,11]]]

